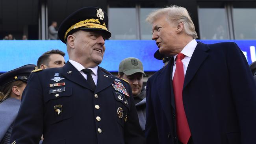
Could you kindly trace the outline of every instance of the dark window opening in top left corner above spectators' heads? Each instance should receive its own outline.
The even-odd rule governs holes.
[[[0,39],[38,39],[38,4],[39,0],[0,0]]]

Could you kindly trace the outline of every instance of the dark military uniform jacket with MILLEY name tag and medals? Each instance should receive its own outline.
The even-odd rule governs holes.
[[[145,143],[129,84],[98,67],[94,92],[69,62],[32,72],[24,90],[11,142],[38,144],[42,134],[43,144]]]

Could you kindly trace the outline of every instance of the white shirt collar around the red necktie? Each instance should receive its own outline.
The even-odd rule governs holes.
[[[196,46],[197,46],[197,41],[195,39],[193,39],[181,51],[181,53],[185,55],[184,59],[182,59],[184,76],[186,76],[187,66],[189,64],[189,61],[190,61],[190,59],[192,57],[192,54],[193,54]],[[176,70],[176,56],[177,55],[178,54],[173,56],[173,58],[174,58],[173,76],[174,76],[174,72]]]

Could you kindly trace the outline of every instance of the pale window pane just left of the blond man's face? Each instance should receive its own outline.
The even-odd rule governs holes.
[[[152,39],[152,26],[146,22],[148,15],[159,8],[141,8],[140,9],[140,28],[141,28],[141,39]]]

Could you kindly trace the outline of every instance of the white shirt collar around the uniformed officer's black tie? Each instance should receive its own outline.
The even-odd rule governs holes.
[[[87,74],[85,74],[82,70],[85,69],[85,67],[83,65],[81,65],[80,63],[73,61],[71,59],[69,59],[69,62],[82,74],[82,76],[87,79]],[[92,73],[92,77],[93,77],[93,81],[95,83],[95,85],[97,85],[97,81],[98,81],[98,66],[95,66],[93,68],[89,68],[91,69],[91,71],[93,71]]]

